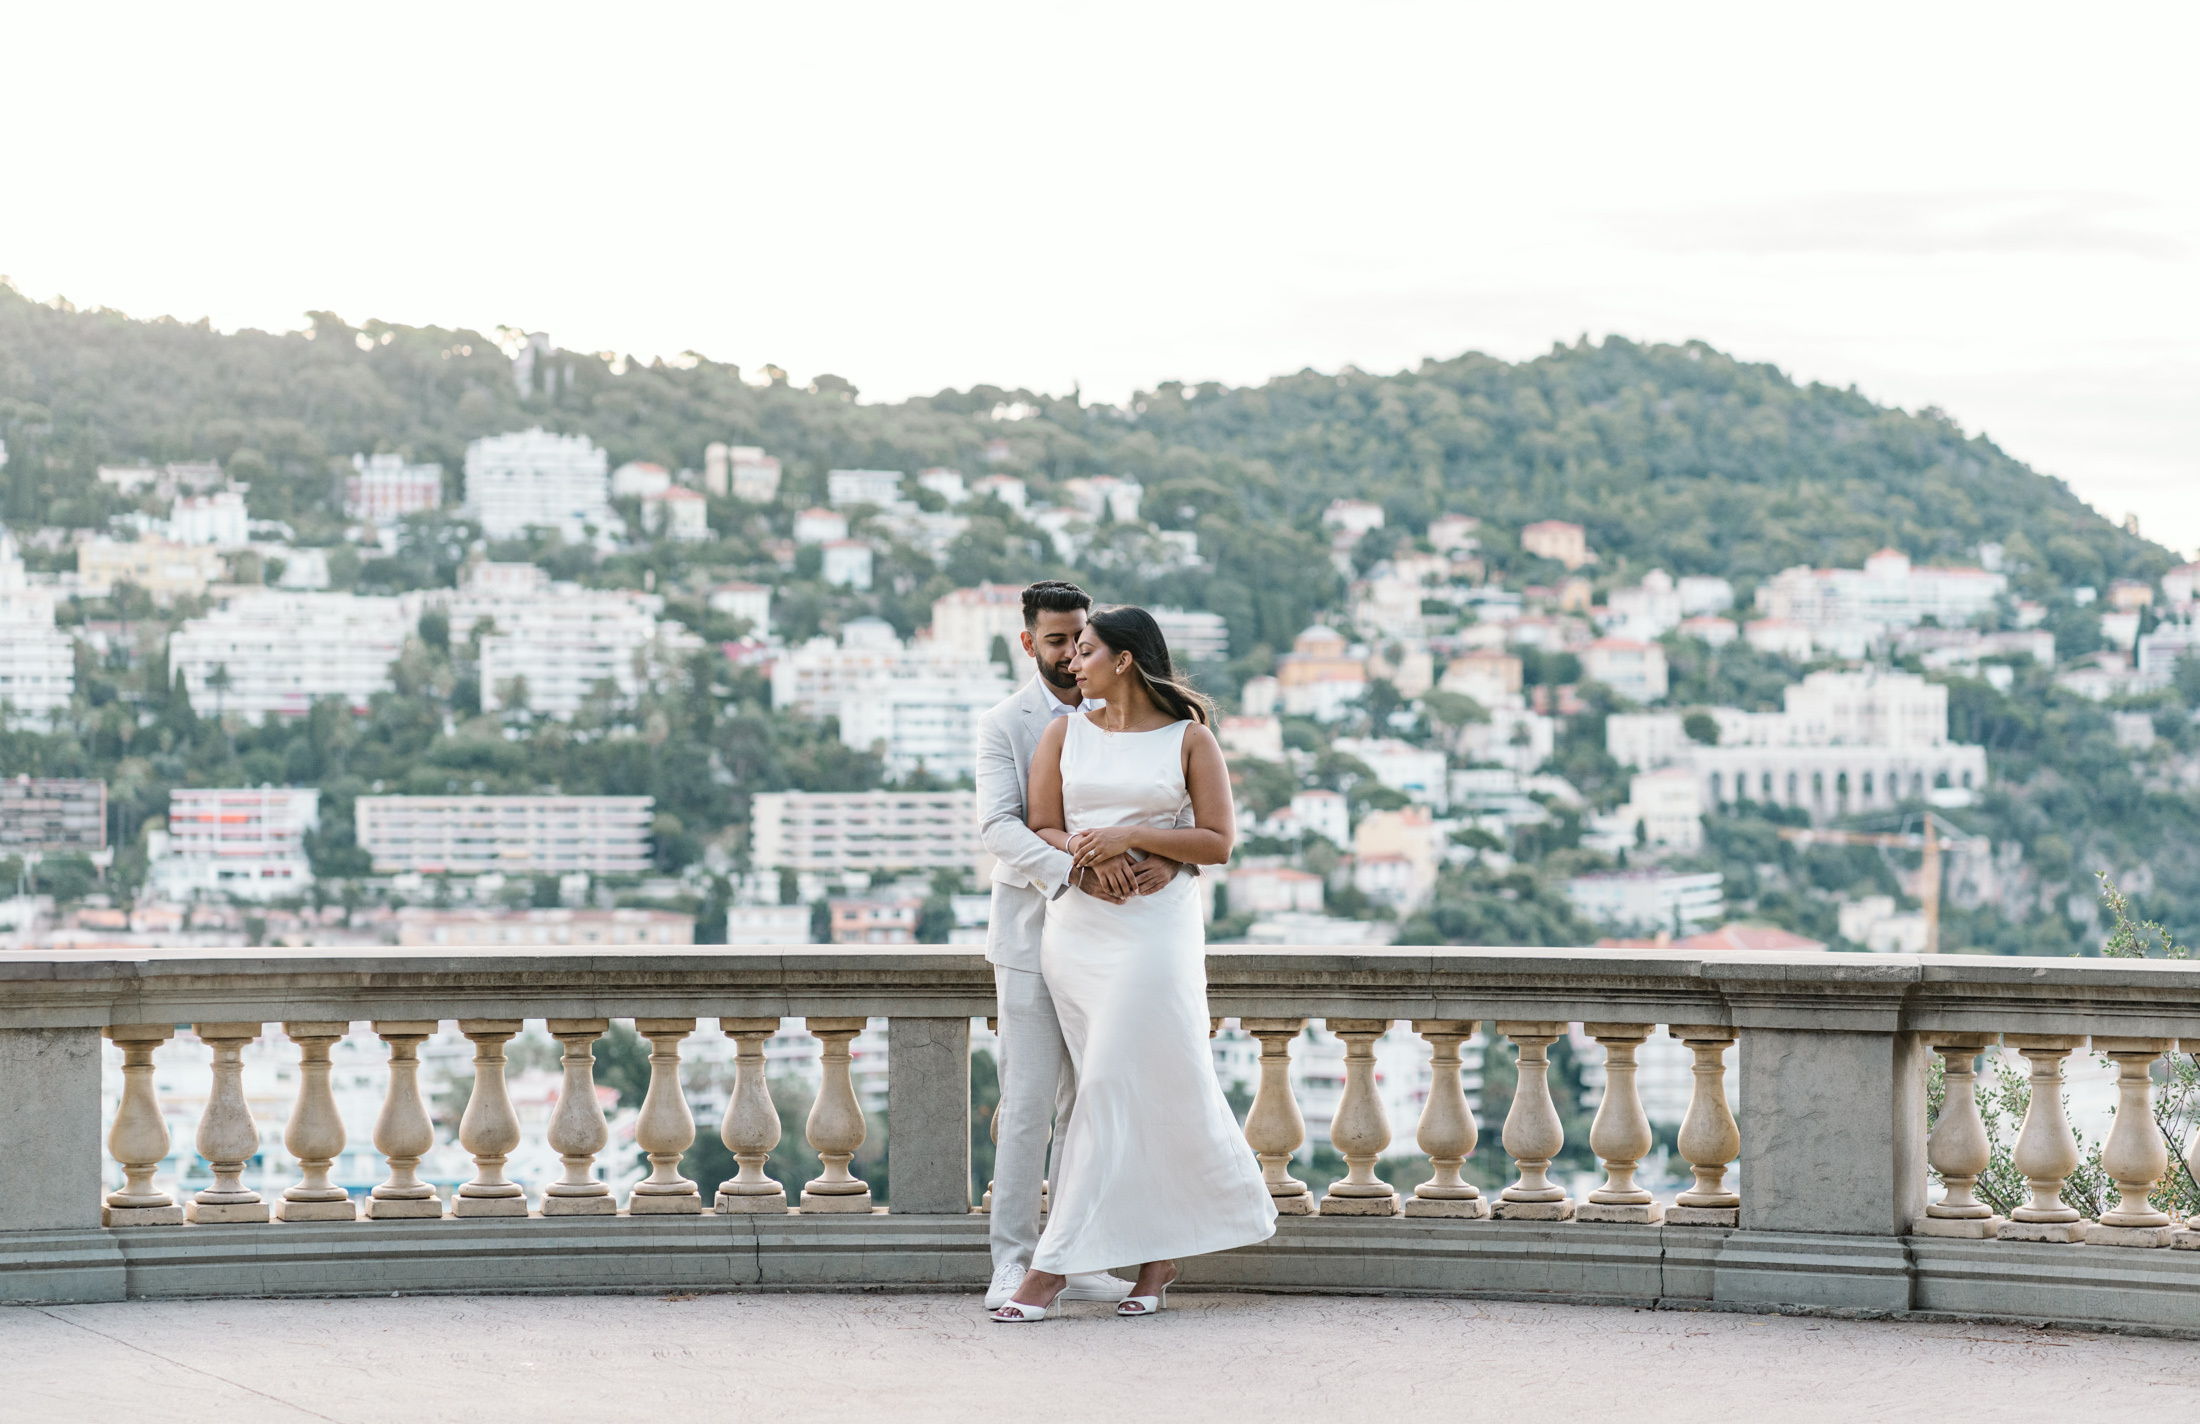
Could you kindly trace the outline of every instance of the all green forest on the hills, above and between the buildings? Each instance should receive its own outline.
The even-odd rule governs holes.
[[[339,517],[354,451],[440,462],[455,504],[466,442],[484,434],[530,425],[576,431],[603,445],[614,464],[653,460],[669,469],[702,467],[713,440],[761,445],[785,467],[781,500],[770,508],[713,500],[717,537],[706,544],[656,541],[598,557],[532,541],[491,552],[598,585],[647,583],[671,596],[673,616],[713,638],[730,636],[697,596],[715,579],[774,583],[777,632],[803,638],[858,614],[884,616],[909,634],[950,588],[1067,574],[1102,599],[1223,614],[1232,662],[1203,669],[1223,695],[1239,678],[1267,671],[1309,621],[1342,612],[1344,579],[1320,526],[1342,495],[1377,500],[1388,515],[1386,528],[1355,548],[1360,568],[1415,539],[1439,513],[1465,513],[1483,519],[1492,574],[1516,585],[1551,581],[1558,566],[1527,555],[1514,537],[1522,524],[1564,517],[1586,526],[1599,588],[1665,568],[1723,574],[1745,603],[1760,579],[1793,563],[1855,566],[1885,544],[1921,563],[1969,561],[1978,544],[1998,541],[2015,590],[2048,603],[2064,656],[2097,645],[2097,618],[2075,605],[2070,588],[2154,579],[2174,563],[1940,412],[1885,409],[1855,390],[1797,385],[1771,365],[1701,343],[1613,337],[1555,346],[1522,363],[1463,354],[1395,374],[1305,370],[1256,387],[1164,383],[1124,405],[1100,405],[990,385],[865,403],[838,376],[796,387],[772,368],[741,372],[695,354],[640,363],[612,352],[548,352],[521,390],[499,337],[510,341],[510,332],[381,321],[354,328],[332,313],[310,313],[297,332],[222,335],[205,324],[33,304],[0,286],[0,513],[18,530],[95,528],[134,508],[95,480],[99,464],[218,460],[251,486],[255,517],[286,522],[297,544],[330,546],[339,588],[396,592],[449,583],[475,530],[453,508],[411,519],[396,552],[361,557]],[[1045,535],[999,502],[966,504],[970,528],[939,559],[900,541],[884,546],[867,594],[827,588],[814,566],[796,563],[790,577],[774,563],[772,541],[794,508],[823,502],[827,469],[931,464],[1014,473],[1041,500],[1076,475],[1137,478],[1144,517],[1197,530],[1201,563],[1151,559],[1148,537],[1118,526],[1102,528],[1065,568]],[[55,566],[70,555],[48,541],[29,557]],[[1676,702],[1764,704],[1802,671],[1747,649],[1705,658],[1683,640],[1672,640],[1672,660]],[[1529,662],[1531,682],[1562,680],[1538,669],[1538,658]],[[191,709],[167,676],[158,638],[147,636],[136,658],[79,658],[79,713],[51,731],[0,737],[0,770],[108,777],[123,845],[161,814],[169,786],[240,775],[315,784],[330,810],[317,861],[332,878],[361,869],[348,806],[372,786],[554,784],[653,795],[660,863],[680,869],[746,817],[755,790],[871,786],[880,777],[873,757],[772,715],[761,680],[719,658],[680,669],[636,706],[607,706],[570,726],[484,718],[471,665],[471,649],[451,645],[447,629],[438,638],[422,627],[400,660],[396,691],[367,718],[321,709],[299,724],[246,729]],[[1593,806],[1610,806],[1624,797],[1624,777],[1602,751],[1610,700],[1602,689],[1591,693],[1591,713],[1562,735],[1555,770]],[[2123,876],[2141,911],[2191,929],[2200,918],[2191,850],[2200,845],[2200,812],[2171,759],[2193,751],[2189,709],[2200,706],[2200,678],[2143,709],[2163,735],[2145,757],[2119,746],[2110,709],[2053,687],[2044,671],[2009,691],[1951,680],[1951,706],[1956,735],[1984,742],[1995,775],[1982,806],[1965,817],[2013,847],[2022,869],[2011,878],[2028,887],[1960,911],[1951,942],[2083,946],[2092,869]],[[1432,737],[1437,720],[1439,709],[1430,709],[1406,735]],[[1287,731],[1309,748],[1324,744],[1311,724]],[[1331,784],[1353,786],[1349,766],[1322,766]],[[1353,795],[1364,799],[1371,788]],[[1571,850],[1580,823],[1569,817],[1538,830],[1547,845],[1516,847],[1522,869],[1511,876],[1448,876],[1439,902],[1406,927],[1406,938],[1577,940],[1586,927],[1553,889],[1560,872],[1591,863]],[[1727,872],[1736,905],[1830,933],[1830,900],[1811,891],[1892,887],[1874,854],[1797,854],[1775,830],[1769,821],[1714,825],[1705,865]]]

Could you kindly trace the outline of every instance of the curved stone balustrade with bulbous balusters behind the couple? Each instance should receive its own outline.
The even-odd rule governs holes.
[[[2152,1067],[2200,1041],[2200,968],[2156,962],[1679,951],[1217,949],[1210,1008],[1258,1039],[1247,1151],[1280,1213],[1256,1248],[1186,1263],[1188,1285],[1404,1290],[1514,1299],[1635,1301],[1742,1310],[1857,1310],[2112,1321],[2200,1329],[2200,1230],[2152,1204],[2171,1169],[2149,1111]],[[970,1200],[970,1021],[992,1012],[972,951],[596,949],[506,953],[95,953],[0,960],[0,1299],[330,1294],[387,1290],[662,1290],[975,1285],[988,1274]],[[763,1043],[783,1019],[818,1041],[803,1131],[810,1182],[777,1182],[781,1138]],[[636,1147],[649,1175],[625,1200],[598,1180],[609,1136],[592,1045],[614,1019],[649,1041]],[[735,1041],[719,1133],[737,1162],[693,1182],[680,1162],[697,1125],[682,1045],[715,1019]],[[851,1162],[869,1125],[849,1039],[889,1023],[887,1182]],[[506,1177],[524,1129],[506,1092],[506,1045],[528,1021],[559,1041],[561,1094],[543,1142],[563,1171],[537,1197]],[[1309,1023],[1344,1041],[1344,1094],[1329,1140],[1344,1175],[1324,1193],[1294,1177],[1305,1118],[1289,1061]],[[438,1195],[418,1175],[433,1129],[418,1050],[453,1023],[475,1078],[458,1125],[471,1175]],[[1419,1120],[1393,1125],[1373,1043],[1408,1026],[1428,1052]],[[211,1186],[178,1202],[156,1182],[169,1155],[152,1054],[178,1026],[213,1052],[196,1149]],[[330,1182],[345,1129],[330,1045],[370,1026],[387,1045],[374,1149],[387,1180],[354,1202]],[[1553,1175],[1566,1129],[1549,1087],[1551,1045],[1575,1032],[1604,1054],[1586,1147],[1602,1164]],[[275,1202],[242,1184],[257,1125],[238,1052],[279,1030],[299,1050],[284,1142],[299,1180]],[[1498,1140],[1509,1184],[1463,1177],[1489,1125],[1461,1087],[1461,1045],[1516,1087]],[[123,1092],[99,1133],[106,1037]],[[1652,1131],[1635,1087],[1639,1050],[1670,1037],[1694,1059],[1679,1129],[1692,1184],[1670,1204],[1637,1182]],[[1976,1059],[2006,1045],[2031,1065],[2015,1140],[2028,1202],[1998,1217],[1978,1200],[1989,1164]],[[2116,1204],[2097,1222],[2061,1202],[2079,1149],[2061,1111],[2072,1052],[2116,1063],[2119,1114],[2103,1166]],[[1945,1107],[1927,1138],[1927,1061]],[[1727,1098],[1727,1067],[1740,1089]],[[1426,1153],[1426,1180],[1377,1173],[1393,1136]],[[1575,1149],[1577,1151],[1577,1149]],[[2196,1149],[2200,1151],[2200,1149]],[[1943,1195],[1927,1204],[1929,1180]],[[1584,1191],[1586,1189],[1586,1191]],[[1571,1193],[1580,1191],[1580,1200]],[[979,1208],[981,1211],[981,1208]],[[2132,1250],[2138,1248],[2138,1250]]]

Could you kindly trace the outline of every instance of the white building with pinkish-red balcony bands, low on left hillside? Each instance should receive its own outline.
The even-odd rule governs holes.
[[[154,832],[147,845],[154,889],[172,900],[284,900],[306,894],[312,887],[306,832],[319,823],[317,790],[172,790],[167,828]]]

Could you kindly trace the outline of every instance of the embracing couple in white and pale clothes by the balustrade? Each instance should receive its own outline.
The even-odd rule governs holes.
[[[1236,839],[1210,713],[1153,614],[1023,590],[1038,662],[979,724],[999,993],[992,1288],[1001,1323],[1056,1301],[1151,1316],[1175,1257],[1276,1233],[1208,1050],[1201,865]],[[1049,1125],[1054,1175],[1041,1230]],[[1124,1285],[1118,1268],[1137,1268]]]

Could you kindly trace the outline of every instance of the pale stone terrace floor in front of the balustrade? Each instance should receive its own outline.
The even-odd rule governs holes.
[[[1947,1424],[2180,1417],[2174,1411],[2200,1404],[2191,1340],[1219,1292],[1177,1294],[1153,1321],[1071,1305],[1038,1325],[992,1325],[975,1294],[22,1305],[0,1310],[0,1417],[26,1424],[484,1424],[697,1411],[957,1424]]]

